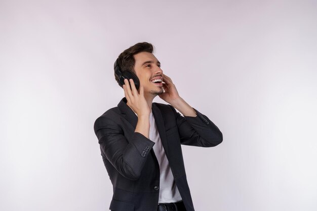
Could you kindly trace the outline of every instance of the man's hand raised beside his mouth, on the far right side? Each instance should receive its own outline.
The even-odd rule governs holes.
[[[178,101],[180,99],[178,92],[176,90],[176,87],[172,81],[172,79],[167,76],[167,75],[163,75],[163,89],[164,89],[164,93],[162,93],[161,95],[159,95],[160,98],[162,98],[164,101],[166,101],[167,103],[171,104],[175,101]]]

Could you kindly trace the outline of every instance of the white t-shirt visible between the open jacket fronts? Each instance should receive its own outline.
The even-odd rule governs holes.
[[[166,157],[154,116],[150,113],[149,140],[155,142],[153,150],[160,165],[160,196],[159,203],[170,203],[182,200],[174,181],[169,161]]]

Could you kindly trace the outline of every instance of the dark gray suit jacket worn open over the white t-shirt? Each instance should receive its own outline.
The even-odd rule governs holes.
[[[160,167],[154,142],[135,133],[138,117],[124,98],[94,124],[101,156],[113,185],[110,209],[156,211],[160,191]],[[217,126],[197,110],[196,117],[181,116],[171,105],[152,104],[162,144],[175,183],[187,211],[194,211],[187,184],[181,144],[213,147],[222,142]]]

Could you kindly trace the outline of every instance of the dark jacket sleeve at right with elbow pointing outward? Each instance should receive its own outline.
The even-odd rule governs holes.
[[[172,106],[171,106],[172,107]],[[222,142],[222,133],[204,114],[196,109],[197,116],[181,116],[174,111],[181,144],[200,147],[214,147]]]

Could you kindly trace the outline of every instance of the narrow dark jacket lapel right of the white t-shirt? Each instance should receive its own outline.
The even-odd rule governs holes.
[[[165,133],[165,123],[163,120],[162,112],[159,108],[157,108],[155,103],[152,104],[152,113],[154,115],[155,124],[157,127],[157,131],[159,131],[165,154],[168,157],[169,150],[168,150],[168,143],[167,143],[167,138],[166,138],[166,133]]]

